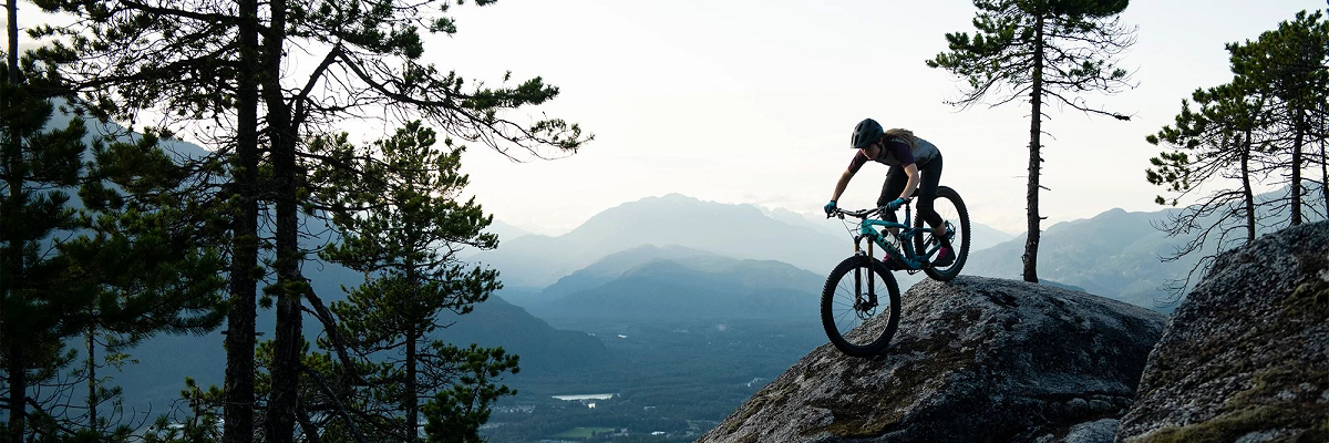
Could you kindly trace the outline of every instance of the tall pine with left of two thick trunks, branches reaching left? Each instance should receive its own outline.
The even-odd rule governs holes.
[[[100,1],[37,0],[48,12],[80,19],[73,25],[33,27],[58,36],[37,51],[58,67],[82,104],[100,118],[134,122],[142,110],[162,116],[157,129],[193,136],[226,160],[186,161],[211,189],[203,205],[229,212],[230,242],[219,245],[227,263],[226,442],[254,436],[254,351],[263,194],[258,128],[259,8],[255,0]],[[235,7],[239,7],[238,11]],[[64,44],[68,41],[69,44]],[[221,128],[209,130],[211,124]]]

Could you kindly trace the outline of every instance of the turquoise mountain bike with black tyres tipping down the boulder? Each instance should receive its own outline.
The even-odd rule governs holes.
[[[890,345],[890,338],[900,326],[900,285],[890,269],[914,274],[922,271],[937,281],[950,281],[960,275],[969,257],[969,210],[956,190],[938,186],[933,208],[942,218],[945,233],[933,231],[922,217],[910,220],[912,198],[902,205],[902,223],[880,220],[885,208],[861,210],[836,209],[831,217],[861,220],[855,230],[851,222],[844,222],[853,237],[853,255],[845,258],[827,277],[821,289],[821,326],[827,330],[831,343],[852,357],[877,355]],[[946,235],[953,246],[956,261],[946,266],[933,266],[941,250],[940,235]],[[868,247],[861,247],[868,239]],[[873,257],[873,245],[886,253],[886,261]],[[893,265],[893,266],[888,266]],[[878,314],[890,315],[880,333],[859,327]]]

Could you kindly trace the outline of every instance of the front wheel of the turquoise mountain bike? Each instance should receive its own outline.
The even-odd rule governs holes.
[[[868,321],[886,315],[882,321]],[[867,255],[845,258],[821,289],[821,326],[841,353],[872,357],[900,326],[900,286],[890,270]]]

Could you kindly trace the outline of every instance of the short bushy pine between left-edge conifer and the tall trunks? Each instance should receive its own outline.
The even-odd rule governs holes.
[[[97,378],[98,345],[109,353],[108,365],[117,365],[158,334],[205,334],[221,326],[223,262],[211,245],[222,241],[226,222],[201,209],[207,202],[190,192],[189,170],[155,136],[109,148],[98,142],[92,150],[78,193],[82,233],[60,243],[60,251],[72,265],[69,289],[93,297],[78,322],[88,341],[88,427],[100,435],[110,423],[97,418],[97,406],[118,396],[118,388]]]

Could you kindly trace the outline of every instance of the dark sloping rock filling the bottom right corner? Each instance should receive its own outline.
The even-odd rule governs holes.
[[[1118,442],[1329,442],[1329,223],[1223,254],[1150,355]]]

